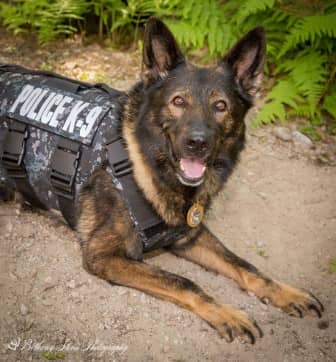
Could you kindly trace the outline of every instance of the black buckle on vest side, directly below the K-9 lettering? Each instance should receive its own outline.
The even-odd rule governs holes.
[[[50,181],[56,195],[73,199],[73,184],[80,158],[80,145],[61,139],[51,162]]]

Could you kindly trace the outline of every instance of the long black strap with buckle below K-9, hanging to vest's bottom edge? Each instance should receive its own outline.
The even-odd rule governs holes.
[[[80,143],[60,138],[51,161],[50,181],[59,208],[68,222],[76,226],[75,179],[80,160]]]

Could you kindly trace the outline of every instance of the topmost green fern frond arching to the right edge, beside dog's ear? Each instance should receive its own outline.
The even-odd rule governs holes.
[[[279,57],[297,45],[310,41],[314,44],[324,36],[336,38],[336,13],[306,16],[300,19],[285,39]]]

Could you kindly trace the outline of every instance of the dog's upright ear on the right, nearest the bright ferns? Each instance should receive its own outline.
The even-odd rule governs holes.
[[[247,33],[219,62],[219,66],[228,64],[236,82],[251,96],[260,87],[266,57],[266,37],[262,27]]]

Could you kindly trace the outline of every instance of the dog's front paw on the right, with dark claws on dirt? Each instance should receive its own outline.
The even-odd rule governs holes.
[[[260,298],[262,302],[271,302],[294,317],[310,315],[321,318],[324,307],[313,294],[279,282],[272,289],[272,294]]]

